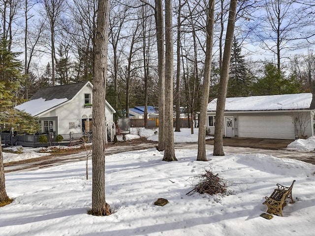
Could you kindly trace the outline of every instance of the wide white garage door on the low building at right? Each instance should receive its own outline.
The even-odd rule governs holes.
[[[294,139],[290,116],[240,116],[239,137],[265,139]]]

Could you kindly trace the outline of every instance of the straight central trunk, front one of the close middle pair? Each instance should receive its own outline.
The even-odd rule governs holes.
[[[163,161],[177,161],[173,132],[173,34],[172,0],[165,0],[165,150]]]

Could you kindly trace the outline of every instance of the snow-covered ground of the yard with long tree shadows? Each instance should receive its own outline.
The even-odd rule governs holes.
[[[184,142],[188,136],[183,130],[174,139]],[[294,142],[290,148],[303,148],[302,141]],[[314,149],[311,138],[303,142],[308,142],[303,149]],[[196,161],[196,150],[178,149],[175,154],[176,162],[161,161],[163,152],[155,148],[106,156],[106,202],[112,214],[104,217],[87,214],[92,201],[91,162],[88,180],[85,162],[7,173],[6,191],[13,202],[0,207],[0,235],[314,235],[314,165],[255,153],[213,156],[208,152],[208,162]],[[209,168],[235,183],[229,187],[232,194],[186,195],[194,182],[191,177]],[[264,197],[276,183],[289,186],[294,179],[296,203],[284,207],[284,217],[260,217],[267,209],[262,205]],[[158,198],[169,203],[155,206]]]

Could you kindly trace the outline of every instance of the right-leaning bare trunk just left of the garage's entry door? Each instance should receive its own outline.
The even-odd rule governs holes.
[[[220,88],[219,96],[217,102],[217,112],[216,112],[216,125],[215,125],[215,138],[214,138],[214,156],[224,156],[223,151],[223,134],[222,129],[224,125],[224,108],[225,108],[225,99],[227,93],[227,82],[228,82],[228,73],[231,60],[231,51],[232,51],[232,42],[233,34],[235,27],[235,17],[236,17],[236,7],[237,0],[231,0],[229,16],[227,22],[226,36],[225,36],[225,45],[223,52],[223,61],[222,61],[222,70],[220,78]]]

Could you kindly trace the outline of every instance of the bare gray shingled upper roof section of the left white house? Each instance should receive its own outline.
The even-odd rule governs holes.
[[[41,88],[31,97],[31,100],[41,97],[46,100],[52,100],[54,98],[67,98],[68,100],[71,100],[78,91],[86,85],[86,83],[87,82],[82,82],[77,84]]]

